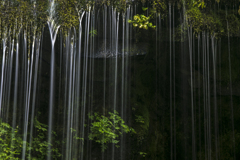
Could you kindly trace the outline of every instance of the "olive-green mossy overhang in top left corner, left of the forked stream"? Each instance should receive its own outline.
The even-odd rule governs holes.
[[[12,3],[2,3],[0,17],[4,26],[12,29],[27,28],[35,25],[42,28],[46,24],[47,1],[29,2],[16,0]]]

